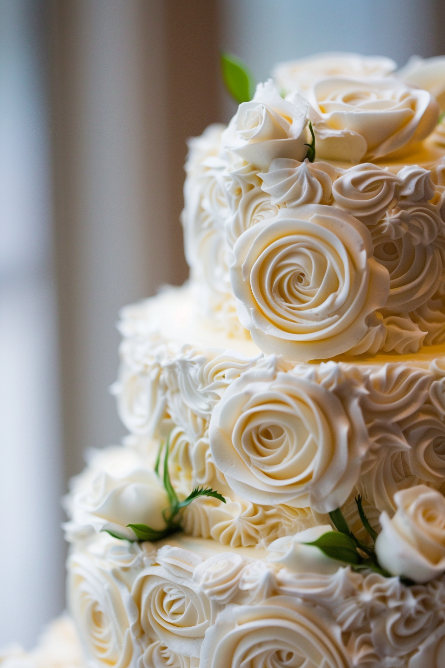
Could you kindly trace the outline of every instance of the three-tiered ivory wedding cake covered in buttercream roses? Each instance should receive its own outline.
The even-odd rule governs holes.
[[[445,667],[445,65],[395,69],[282,63],[190,140],[190,279],[123,309],[66,501],[85,665]]]

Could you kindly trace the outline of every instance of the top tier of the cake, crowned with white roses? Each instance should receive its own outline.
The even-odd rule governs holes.
[[[185,254],[215,327],[299,361],[445,341],[445,126],[404,81],[431,63],[394,67],[282,63],[191,140]]]

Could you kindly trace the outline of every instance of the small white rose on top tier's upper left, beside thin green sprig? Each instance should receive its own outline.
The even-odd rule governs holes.
[[[304,100],[283,100],[272,79],[259,83],[251,102],[243,102],[222,135],[225,148],[258,168],[275,158],[304,160],[308,147]]]

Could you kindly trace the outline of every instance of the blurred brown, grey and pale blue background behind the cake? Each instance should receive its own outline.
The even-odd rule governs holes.
[[[185,140],[318,51],[445,53],[443,0],[0,0],[0,647],[64,606],[59,498],[125,430],[119,309],[187,277]]]

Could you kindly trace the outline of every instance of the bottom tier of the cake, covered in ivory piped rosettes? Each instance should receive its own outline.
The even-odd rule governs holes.
[[[445,666],[444,577],[408,587],[350,566],[295,572],[264,549],[182,534],[99,534],[69,556],[68,598],[91,668]]]

